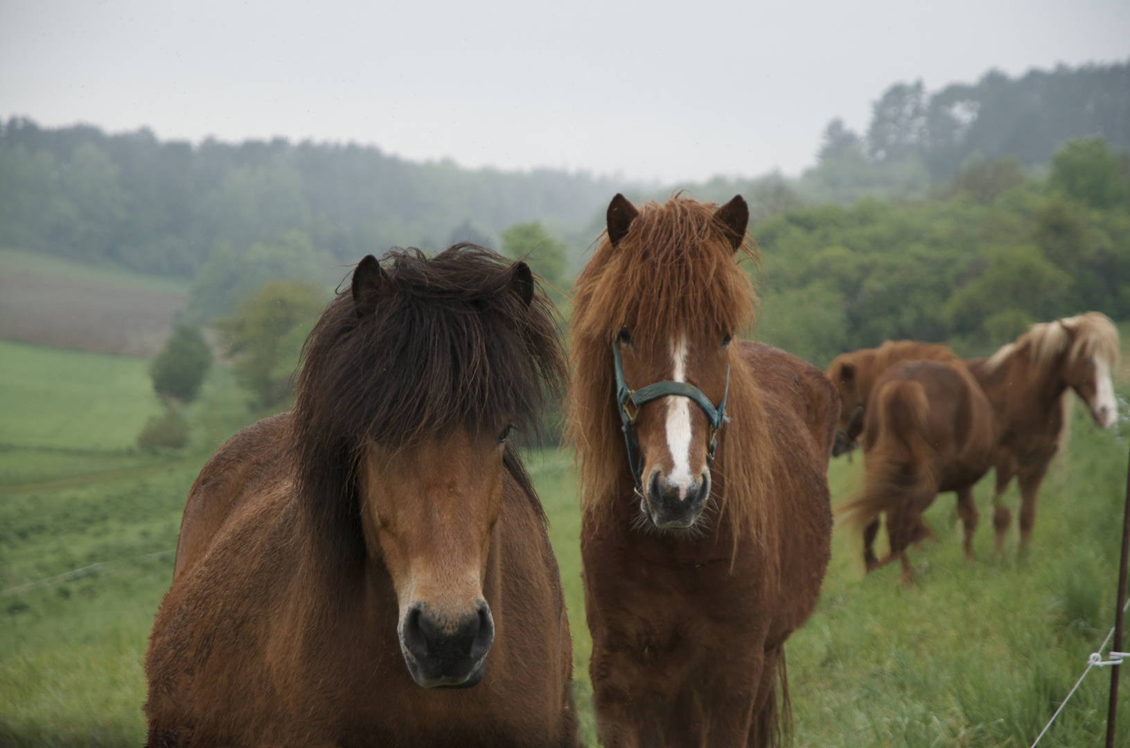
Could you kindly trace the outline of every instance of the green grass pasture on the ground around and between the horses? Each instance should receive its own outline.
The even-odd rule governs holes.
[[[26,366],[49,369],[46,359],[56,353],[28,347],[20,355],[29,359]],[[67,355],[90,356],[90,364],[76,363],[68,369],[72,379],[56,379],[58,395],[35,414],[59,424],[71,411],[86,417],[75,405],[80,399],[67,393],[89,386],[84,377],[101,371],[102,357]],[[37,356],[43,363],[31,360]],[[3,351],[0,359],[7,362]],[[150,397],[144,377],[132,381],[133,390],[115,390],[118,405],[107,412]],[[5,389],[0,381],[0,397]],[[0,410],[9,412],[6,401]],[[172,573],[172,557],[162,553],[175,547],[184,496],[200,464],[249,415],[227,372],[217,369],[188,417],[192,443],[179,452],[63,450],[50,443],[50,433],[67,428],[41,432],[46,435],[32,446],[0,450],[0,745],[125,746],[144,739],[146,637]],[[141,415],[131,421],[138,429],[139,418],[144,423]],[[0,428],[24,433],[18,424]],[[128,444],[129,428],[119,424],[106,432],[118,442],[102,438]],[[939,542],[913,555],[913,589],[896,585],[895,568],[863,579],[851,539],[837,533],[819,608],[786,647],[794,745],[1028,745],[1111,625],[1128,435],[1124,426],[1121,433],[1095,432],[1077,414],[1071,444],[1045,482],[1027,560],[1016,558],[1015,547],[1002,560],[991,557],[986,485],[977,490],[981,560],[970,565],[962,558],[954,501],[942,496],[928,514]],[[591,741],[590,642],[570,463],[558,452],[528,460],[551,523],[582,727]],[[852,490],[860,468],[860,460],[833,461],[837,499]],[[1015,492],[1012,501],[1015,506]],[[23,586],[103,562],[113,563]],[[23,589],[9,591],[17,586]],[[1102,745],[1109,681],[1109,671],[1092,671],[1041,745]],[[1130,745],[1130,702],[1123,707],[1120,740]]]

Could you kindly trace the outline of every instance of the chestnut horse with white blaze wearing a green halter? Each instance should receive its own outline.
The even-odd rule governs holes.
[[[607,220],[574,289],[568,424],[600,740],[764,746],[829,556],[835,390],[733,339],[754,298],[740,195],[617,194]]]

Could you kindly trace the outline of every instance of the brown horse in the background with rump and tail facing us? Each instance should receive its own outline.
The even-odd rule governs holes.
[[[863,493],[842,510],[849,523],[866,525],[867,571],[897,558],[902,582],[910,582],[906,548],[929,537],[922,512],[948,490],[957,494],[965,557],[974,560],[973,486],[992,467],[996,444],[989,400],[959,359],[889,366],[875,381],[864,418]],[[883,560],[872,549],[880,514],[886,515],[890,539],[890,553]]]

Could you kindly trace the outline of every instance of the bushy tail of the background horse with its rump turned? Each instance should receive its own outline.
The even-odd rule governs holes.
[[[929,417],[930,401],[925,389],[914,380],[884,383],[867,414],[870,447],[863,455],[863,494],[841,512],[854,528],[863,527],[886,512],[892,554],[905,547],[896,537],[904,532],[913,536],[918,529],[893,527],[901,522],[892,520],[902,517],[899,510],[916,503],[914,499],[929,501],[937,493],[930,445],[925,438]],[[896,545],[901,547],[896,548]]]

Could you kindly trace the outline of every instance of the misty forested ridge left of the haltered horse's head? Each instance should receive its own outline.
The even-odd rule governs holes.
[[[356,145],[0,127],[0,245],[184,278],[255,246],[304,244],[325,267],[489,241],[522,220],[581,225],[615,191],[584,174],[416,164]]]

